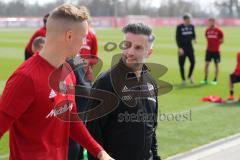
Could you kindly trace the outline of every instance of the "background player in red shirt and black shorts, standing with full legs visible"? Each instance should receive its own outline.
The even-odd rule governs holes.
[[[209,18],[209,27],[205,32],[205,36],[207,39],[207,51],[205,56],[205,78],[201,81],[202,84],[208,83],[208,68],[211,60],[214,60],[215,64],[215,77],[211,82],[213,85],[216,85],[218,82],[218,74],[219,74],[219,63],[221,61],[220,56],[220,45],[223,43],[224,34],[223,31],[216,26],[215,19]]]

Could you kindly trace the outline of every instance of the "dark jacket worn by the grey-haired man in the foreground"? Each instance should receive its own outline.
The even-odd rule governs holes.
[[[116,160],[159,160],[157,87],[148,68],[143,66],[142,76],[137,80],[120,60],[100,75],[93,88],[111,92],[119,101],[111,113],[87,122],[94,139]],[[88,104],[96,107],[99,102],[90,100]],[[89,154],[89,160],[96,159]]]

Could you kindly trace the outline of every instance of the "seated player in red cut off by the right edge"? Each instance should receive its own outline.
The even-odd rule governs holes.
[[[240,52],[238,52],[238,54],[237,54],[236,69],[230,75],[230,81],[229,81],[230,95],[228,96],[229,101],[234,100],[234,83],[238,83],[238,82],[240,82]],[[240,102],[240,97],[238,98],[238,101]]]

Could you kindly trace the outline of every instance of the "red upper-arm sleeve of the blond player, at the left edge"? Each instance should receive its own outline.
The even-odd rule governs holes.
[[[0,100],[0,111],[19,118],[34,100],[32,79],[21,73],[14,73],[7,81]]]

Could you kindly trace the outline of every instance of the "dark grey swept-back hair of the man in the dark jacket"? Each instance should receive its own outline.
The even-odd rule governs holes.
[[[148,41],[152,43],[155,39],[152,34],[152,28],[143,23],[130,23],[123,27],[123,33],[133,33],[133,34],[142,34],[148,36]]]

